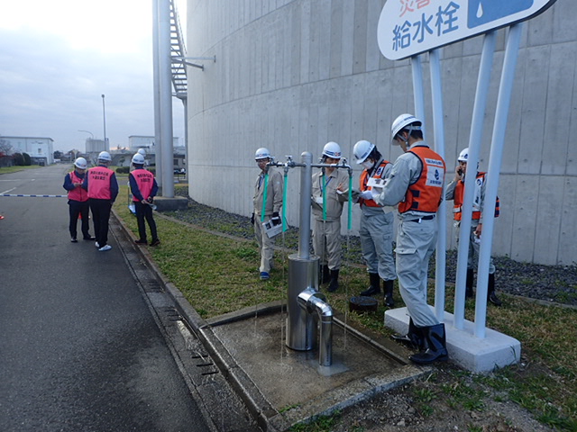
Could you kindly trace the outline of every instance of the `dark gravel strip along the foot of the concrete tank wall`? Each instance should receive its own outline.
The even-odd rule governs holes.
[[[175,192],[181,196],[187,196],[186,193],[188,193],[184,190],[176,190]],[[171,211],[166,214],[175,219],[235,237],[254,238],[250,215],[241,216],[229,213],[190,199],[188,210]],[[298,229],[289,227],[284,233],[282,245],[298,250]],[[362,265],[361,242],[358,237],[343,237],[343,254],[345,263]],[[456,257],[456,250],[447,251],[447,284],[454,281]],[[497,268],[495,281],[498,293],[509,293],[546,302],[577,306],[577,266],[544,266],[520,263],[508,257],[494,257],[493,260]],[[434,260],[431,261],[429,277],[433,277],[435,273],[435,263]]]

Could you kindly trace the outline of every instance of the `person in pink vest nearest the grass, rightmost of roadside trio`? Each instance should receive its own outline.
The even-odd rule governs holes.
[[[152,215],[152,202],[156,193],[159,192],[159,185],[156,183],[154,175],[144,169],[144,157],[141,153],[133,156],[134,170],[128,175],[130,191],[133,193],[134,210],[138,221],[139,238],[135,241],[137,245],[146,244],[146,225],[151,229],[151,246],[160,245],[159,236],[156,230],[156,222]]]

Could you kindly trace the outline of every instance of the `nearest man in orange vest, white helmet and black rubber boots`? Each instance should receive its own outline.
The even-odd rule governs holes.
[[[444,323],[436,319],[426,302],[429,258],[435,252],[436,211],[443,201],[443,157],[423,140],[422,121],[401,114],[393,121],[393,145],[405,152],[397,158],[384,186],[373,193],[381,205],[398,205],[398,287],[410,316],[408,334],[394,336],[419,349],[409,359],[426,365],[449,358]],[[379,192],[380,191],[380,192]]]

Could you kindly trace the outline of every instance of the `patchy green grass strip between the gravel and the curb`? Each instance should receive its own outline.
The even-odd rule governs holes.
[[[120,180],[119,184],[119,196],[127,196],[126,186]],[[124,200],[117,200],[114,210],[129,229],[137,232],[136,219],[128,211]],[[156,221],[162,243],[160,247],[149,249],[151,256],[203,318],[279,300],[286,295],[288,253],[277,252],[275,270],[270,280],[262,282],[255,241],[221,237],[160,217]],[[218,230],[218,221],[215,220],[211,227],[203,228]],[[326,296],[335,310],[344,312],[348,309],[350,297],[365,289],[369,281],[365,269],[345,265],[341,270],[340,282],[341,290],[326,293]],[[521,364],[488,375],[447,368],[444,369],[442,382],[437,381],[436,376],[430,376],[426,381],[413,383],[413,395],[419,412],[425,417],[430,416],[439,404],[444,407],[440,410],[479,412],[486,410],[490,401],[514,401],[551,428],[576,431],[577,311],[526,302],[506,293],[499,295],[505,302],[500,308],[488,308],[487,325],[521,341]],[[397,285],[394,298],[397,307],[401,307],[403,302]],[[428,298],[434,298],[432,286]],[[445,309],[452,311],[451,287],[447,287],[445,302]],[[473,302],[468,301],[465,308],[468,320],[473,320]],[[347,320],[387,337],[391,331],[383,327],[385,308],[382,302],[379,304],[375,313],[359,315],[351,312],[347,313]],[[335,414],[298,425],[292,430],[331,430],[338,419],[339,416]]]

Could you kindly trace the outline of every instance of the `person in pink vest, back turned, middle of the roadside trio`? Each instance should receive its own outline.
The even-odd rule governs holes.
[[[118,182],[114,171],[108,166],[112,157],[107,151],[98,154],[98,166],[87,171],[82,188],[88,191],[88,204],[92,211],[96,247],[101,252],[112,249],[108,244],[108,220],[112,204],[118,195]]]

